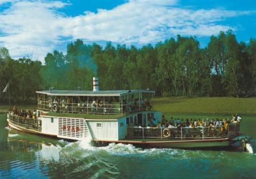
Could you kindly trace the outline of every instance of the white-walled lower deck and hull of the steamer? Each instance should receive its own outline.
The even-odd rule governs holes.
[[[150,112],[150,115],[152,112]],[[157,116],[157,113],[154,113]],[[240,125],[230,124],[227,128],[166,128],[131,127],[130,121],[146,124],[147,113],[135,113],[120,119],[82,119],[70,117],[41,116],[38,119],[21,119],[9,115],[10,127],[38,135],[60,139],[92,139],[95,143],[123,143],[161,148],[225,147],[239,135]],[[159,115],[158,115],[159,116]],[[145,118],[144,118],[145,117]],[[145,120],[143,120],[145,119]]]

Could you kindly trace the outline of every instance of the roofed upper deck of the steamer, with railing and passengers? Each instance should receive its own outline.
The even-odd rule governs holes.
[[[38,93],[38,110],[58,113],[126,114],[152,108],[155,91],[113,90],[78,91],[48,90]]]

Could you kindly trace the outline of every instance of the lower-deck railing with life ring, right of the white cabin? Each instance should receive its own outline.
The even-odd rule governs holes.
[[[218,139],[234,136],[240,131],[239,124],[229,124],[227,128],[219,127],[198,127],[198,128],[145,128],[145,127],[128,127],[128,139]]]

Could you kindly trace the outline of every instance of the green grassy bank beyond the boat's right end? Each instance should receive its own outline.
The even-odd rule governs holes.
[[[256,97],[159,97],[152,103],[165,114],[256,115]]]

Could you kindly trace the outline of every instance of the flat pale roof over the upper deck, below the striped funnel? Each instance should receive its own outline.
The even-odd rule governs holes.
[[[111,91],[78,91],[78,90],[47,90],[47,91],[36,91],[37,93],[49,95],[49,96],[123,96],[131,93],[145,92],[155,93],[150,90],[111,90]]]

